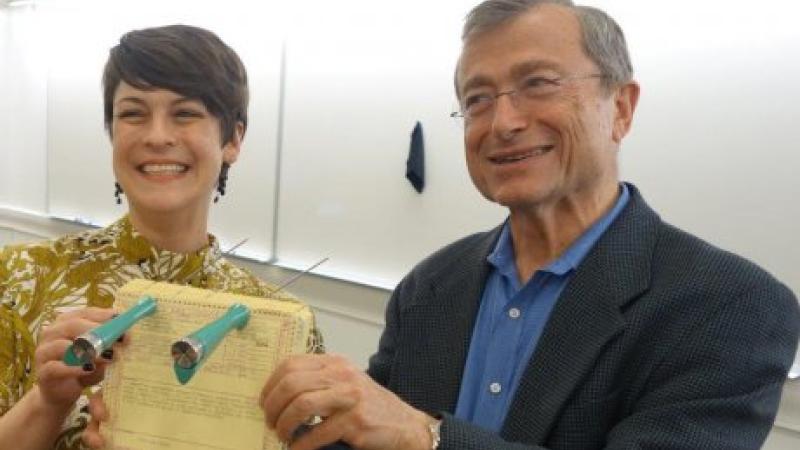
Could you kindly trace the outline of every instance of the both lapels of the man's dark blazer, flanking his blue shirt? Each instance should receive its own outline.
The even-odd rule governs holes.
[[[651,258],[661,219],[635,186],[628,184],[628,189],[628,205],[586,255],[545,326],[502,429],[508,439],[535,442],[547,436],[562,405],[592,370],[606,342],[623,331],[620,308],[650,285]],[[448,264],[421,280],[429,286],[430,295],[420,296],[415,302],[427,304],[428,312],[435,316],[429,323],[439,324],[437,334],[447,336],[451,344],[435,349],[442,355],[437,378],[459,380],[424,402],[432,411],[455,409],[490,270],[486,257],[500,230],[499,226],[480,235],[474,245],[466,246],[462,254],[454,255]]]

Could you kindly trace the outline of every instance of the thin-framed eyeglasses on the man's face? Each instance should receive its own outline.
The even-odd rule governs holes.
[[[462,99],[461,109],[451,113],[450,117],[463,118],[466,123],[492,117],[497,106],[497,99],[504,95],[508,96],[514,107],[524,111],[531,111],[537,104],[556,97],[568,83],[593,78],[606,78],[606,76],[599,73],[564,77],[529,76],[523,78],[517,88],[510,91],[496,94],[477,92],[466,95]]]

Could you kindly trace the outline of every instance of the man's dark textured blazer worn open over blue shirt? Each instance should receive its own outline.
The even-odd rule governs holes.
[[[451,415],[499,228],[438,251],[397,287],[368,372],[443,415],[440,449],[761,446],[797,345],[794,295],[630,189],[558,300],[499,435]]]

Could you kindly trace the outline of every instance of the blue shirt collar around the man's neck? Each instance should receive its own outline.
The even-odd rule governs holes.
[[[620,194],[614,207],[598,219],[588,230],[586,230],[572,245],[569,246],[556,260],[552,261],[541,270],[555,275],[565,275],[571,270],[575,270],[580,265],[583,258],[600,239],[600,236],[611,226],[614,219],[619,216],[625,205],[628,204],[630,192],[625,183],[620,183]],[[495,244],[494,250],[486,257],[486,260],[494,266],[504,277],[511,280],[517,279],[517,265],[514,262],[514,246],[511,241],[511,227],[508,219],[503,224],[500,237]]]

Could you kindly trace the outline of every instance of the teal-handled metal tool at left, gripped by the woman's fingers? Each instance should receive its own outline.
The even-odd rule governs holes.
[[[124,313],[75,338],[64,353],[64,363],[69,366],[93,363],[97,355],[111,348],[130,327],[155,311],[153,297],[143,296]]]

